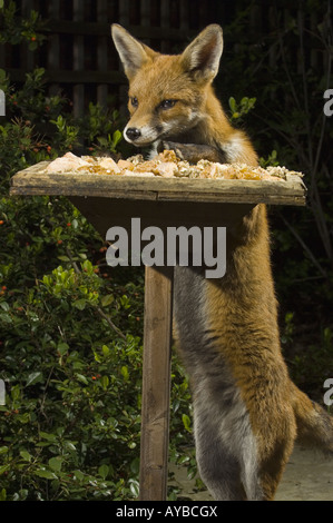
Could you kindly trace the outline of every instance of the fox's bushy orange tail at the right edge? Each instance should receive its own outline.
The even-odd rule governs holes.
[[[333,417],[294,384],[293,407],[297,424],[297,441],[333,455]]]

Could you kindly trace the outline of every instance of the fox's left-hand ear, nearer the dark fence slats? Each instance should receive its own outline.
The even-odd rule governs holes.
[[[124,27],[112,23],[111,34],[123,62],[125,75],[130,80],[140,67],[158,53],[136,40]]]

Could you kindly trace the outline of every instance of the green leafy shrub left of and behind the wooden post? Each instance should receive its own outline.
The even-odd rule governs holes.
[[[2,41],[40,45],[39,19],[4,12]],[[2,13],[3,14],[3,13]],[[35,40],[36,36],[36,40]],[[1,500],[123,500],[138,494],[143,270],[110,268],[107,246],[61,197],[8,197],[10,177],[67,150],[117,155],[119,115],[49,97],[45,70],[20,86],[0,70]],[[172,455],[190,437],[187,378],[174,357]],[[183,418],[186,421],[185,431]],[[176,451],[175,445],[178,450]],[[170,494],[173,495],[173,494]]]

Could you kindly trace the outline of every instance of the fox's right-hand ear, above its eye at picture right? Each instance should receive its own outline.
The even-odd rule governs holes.
[[[182,55],[182,62],[196,79],[212,81],[223,51],[223,32],[217,23],[206,27]]]

